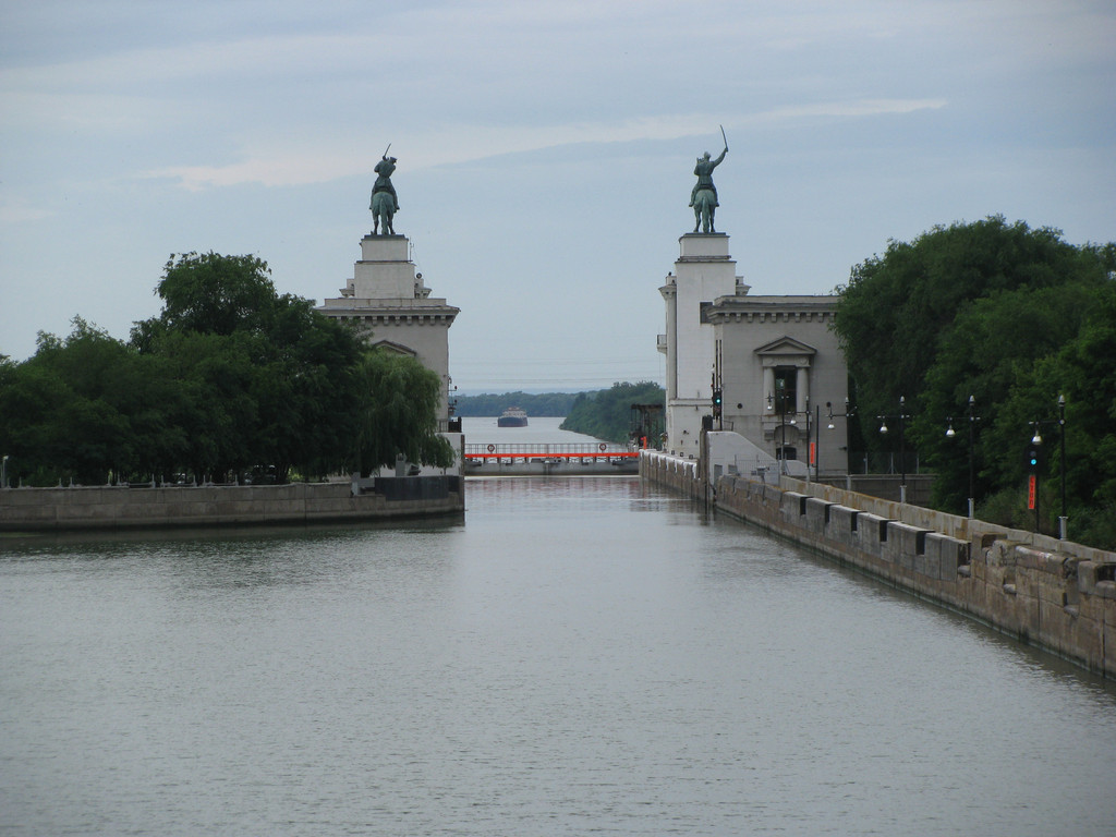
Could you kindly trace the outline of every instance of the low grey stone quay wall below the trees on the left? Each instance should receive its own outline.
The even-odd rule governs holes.
[[[433,479],[441,479],[440,489],[401,500],[375,490],[354,491],[349,482],[4,489],[0,531],[316,523],[463,512],[460,478]]]

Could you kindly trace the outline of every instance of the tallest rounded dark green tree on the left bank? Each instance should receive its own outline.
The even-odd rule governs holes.
[[[285,481],[295,466],[320,475],[346,461],[359,340],[312,301],[277,294],[269,273],[250,256],[172,257],[156,286],[163,311],[133,328],[190,394],[179,422],[198,474],[268,465]]]

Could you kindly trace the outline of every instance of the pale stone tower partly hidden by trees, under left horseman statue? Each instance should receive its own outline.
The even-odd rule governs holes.
[[[450,427],[450,326],[460,311],[430,296],[422,273],[411,261],[405,235],[365,235],[360,260],[340,297],[323,300],[327,317],[353,320],[367,333],[369,345],[410,355],[442,381],[439,431]]]

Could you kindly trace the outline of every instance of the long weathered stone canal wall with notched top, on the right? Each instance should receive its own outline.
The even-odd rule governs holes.
[[[829,485],[641,458],[641,475],[1022,642],[1116,677],[1116,554]],[[646,460],[646,461],[644,461]]]

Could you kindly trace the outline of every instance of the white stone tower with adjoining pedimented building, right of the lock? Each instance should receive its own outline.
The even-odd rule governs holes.
[[[691,233],[680,243],[674,272],[660,288],[666,301],[666,334],[658,340],[666,354],[664,450],[698,459],[704,420],[713,431],[711,475],[718,468],[846,473],[848,376],[830,328],[837,298],[749,296],[728,235]]]

